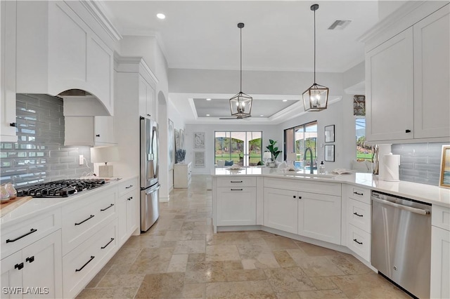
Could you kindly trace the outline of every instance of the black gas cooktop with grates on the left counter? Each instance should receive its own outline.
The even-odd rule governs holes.
[[[105,185],[103,179],[69,179],[18,187],[16,190],[18,197],[69,197],[77,192],[91,190],[103,185]]]

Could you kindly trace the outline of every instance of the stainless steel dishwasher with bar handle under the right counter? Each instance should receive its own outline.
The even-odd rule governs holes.
[[[418,298],[430,298],[431,204],[372,192],[371,263]]]

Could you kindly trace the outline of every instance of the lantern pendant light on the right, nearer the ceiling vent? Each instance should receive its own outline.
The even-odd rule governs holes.
[[[311,5],[314,11],[314,84],[303,93],[304,111],[321,111],[328,105],[328,87],[316,84],[316,11],[319,4]]]

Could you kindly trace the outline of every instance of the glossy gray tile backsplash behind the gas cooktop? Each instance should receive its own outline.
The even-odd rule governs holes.
[[[0,142],[0,181],[26,185],[79,178],[93,169],[89,147],[64,146],[63,100],[50,95],[18,94],[18,142]],[[91,169],[79,165],[82,154]]]

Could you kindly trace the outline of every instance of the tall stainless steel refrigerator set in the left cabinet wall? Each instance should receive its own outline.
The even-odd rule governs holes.
[[[141,117],[141,231],[146,232],[160,216],[158,182],[158,124]]]

